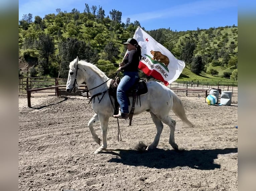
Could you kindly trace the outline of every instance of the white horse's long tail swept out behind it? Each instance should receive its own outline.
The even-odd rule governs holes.
[[[176,94],[174,94],[172,91],[170,91],[170,95],[173,98],[173,105],[172,105],[172,111],[189,127],[193,127],[194,124],[191,123],[186,116],[185,108],[181,100],[178,98]]]

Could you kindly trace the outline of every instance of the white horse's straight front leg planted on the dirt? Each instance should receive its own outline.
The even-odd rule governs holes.
[[[94,154],[101,153],[103,150],[106,150],[107,145],[107,132],[108,132],[108,122],[109,116],[99,114],[99,120],[101,124],[101,134],[102,134],[102,145],[94,152]]]

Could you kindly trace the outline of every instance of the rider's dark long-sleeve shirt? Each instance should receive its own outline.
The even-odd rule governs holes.
[[[138,72],[139,61],[139,53],[136,50],[131,50],[124,58],[125,65],[121,67],[121,70],[124,70],[124,72]]]

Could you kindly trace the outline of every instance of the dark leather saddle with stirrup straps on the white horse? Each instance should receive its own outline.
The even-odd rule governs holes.
[[[118,114],[119,112],[119,103],[117,101],[117,97],[116,97],[116,93],[117,93],[117,86],[120,82],[120,78],[118,77],[115,80],[111,81],[110,84],[110,88],[109,88],[109,96],[114,97],[114,104],[113,108],[114,108],[114,115]],[[136,97],[137,97],[137,104],[138,104],[138,99],[140,100],[140,95],[144,95],[148,92],[147,89],[147,85],[146,82],[144,80],[140,80],[138,79],[135,84],[127,91],[126,95],[128,97],[133,97],[133,101],[132,101],[132,108],[130,110],[130,113],[128,115],[129,119],[130,119],[130,123],[129,125],[131,126],[131,122],[132,122],[132,117],[133,117],[133,113],[134,113],[134,109],[135,109],[135,101],[136,101]],[[130,105],[130,102],[129,102]]]

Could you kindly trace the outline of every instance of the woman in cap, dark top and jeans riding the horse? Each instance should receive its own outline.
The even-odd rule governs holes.
[[[117,87],[117,101],[121,108],[121,113],[113,115],[115,118],[127,119],[129,114],[128,109],[128,97],[126,92],[134,85],[139,79],[138,66],[141,59],[141,47],[138,42],[130,38],[127,42],[123,43],[127,45],[128,54],[123,59],[123,62],[119,64],[118,70],[123,70],[123,78],[121,79]]]

